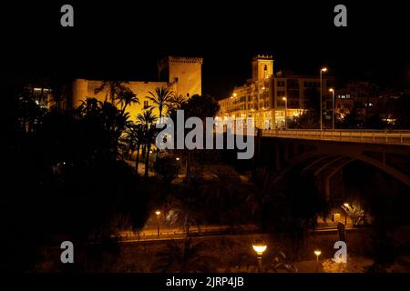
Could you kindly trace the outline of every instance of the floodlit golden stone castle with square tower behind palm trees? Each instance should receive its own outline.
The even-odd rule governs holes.
[[[167,56],[159,62],[160,81],[129,81],[124,84],[130,88],[139,99],[139,104],[129,105],[128,113],[135,117],[148,108],[151,101],[147,98],[149,91],[155,94],[155,89],[168,88],[174,95],[190,97],[201,95],[201,65],[202,58],[187,56]],[[103,84],[101,80],[76,79],[72,85],[72,106],[77,107],[87,97],[95,97],[99,101],[106,100],[108,91],[98,92],[96,89]],[[155,111],[154,111],[155,112]],[[158,115],[158,112],[155,112]]]

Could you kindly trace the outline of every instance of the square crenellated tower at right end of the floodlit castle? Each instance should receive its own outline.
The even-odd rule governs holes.
[[[159,63],[159,75],[167,80],[176,95],[202,94],[202,58],[167,56]]]

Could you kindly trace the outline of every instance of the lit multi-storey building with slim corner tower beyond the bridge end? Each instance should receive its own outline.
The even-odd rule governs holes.
[[[221,118],[253,117],[258,128],[282,128],[285,118],[290,121],[303,112],[306,90],[320,91],[319,74],[293,75],[282,71],[274,74],[272,55],[256,55],[251,65],[251,79],[220,100]],[[328,80],[329,77],[323,76],[323,96],[328,90]]]

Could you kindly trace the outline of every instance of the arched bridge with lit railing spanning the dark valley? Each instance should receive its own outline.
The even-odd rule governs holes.
[[[255,161],[271,166],[280,179],[295,166],[313,174],[323,194],[332,198],[333,177],[344,166],[362,161],[410,187],[409,131],[259,131]]]

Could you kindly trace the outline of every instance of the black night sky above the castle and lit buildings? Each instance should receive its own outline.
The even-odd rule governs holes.
[[[275,71],[410,87],[405,1],[15,1],[1,13],[6,81],[64,77],[155,80],[163,55],[202,56],[203,93],[228,95],[251,75],[251,56]],[[60,26],[61,5],[75,27]],[[333,7],[347,6],[347,27]]]

